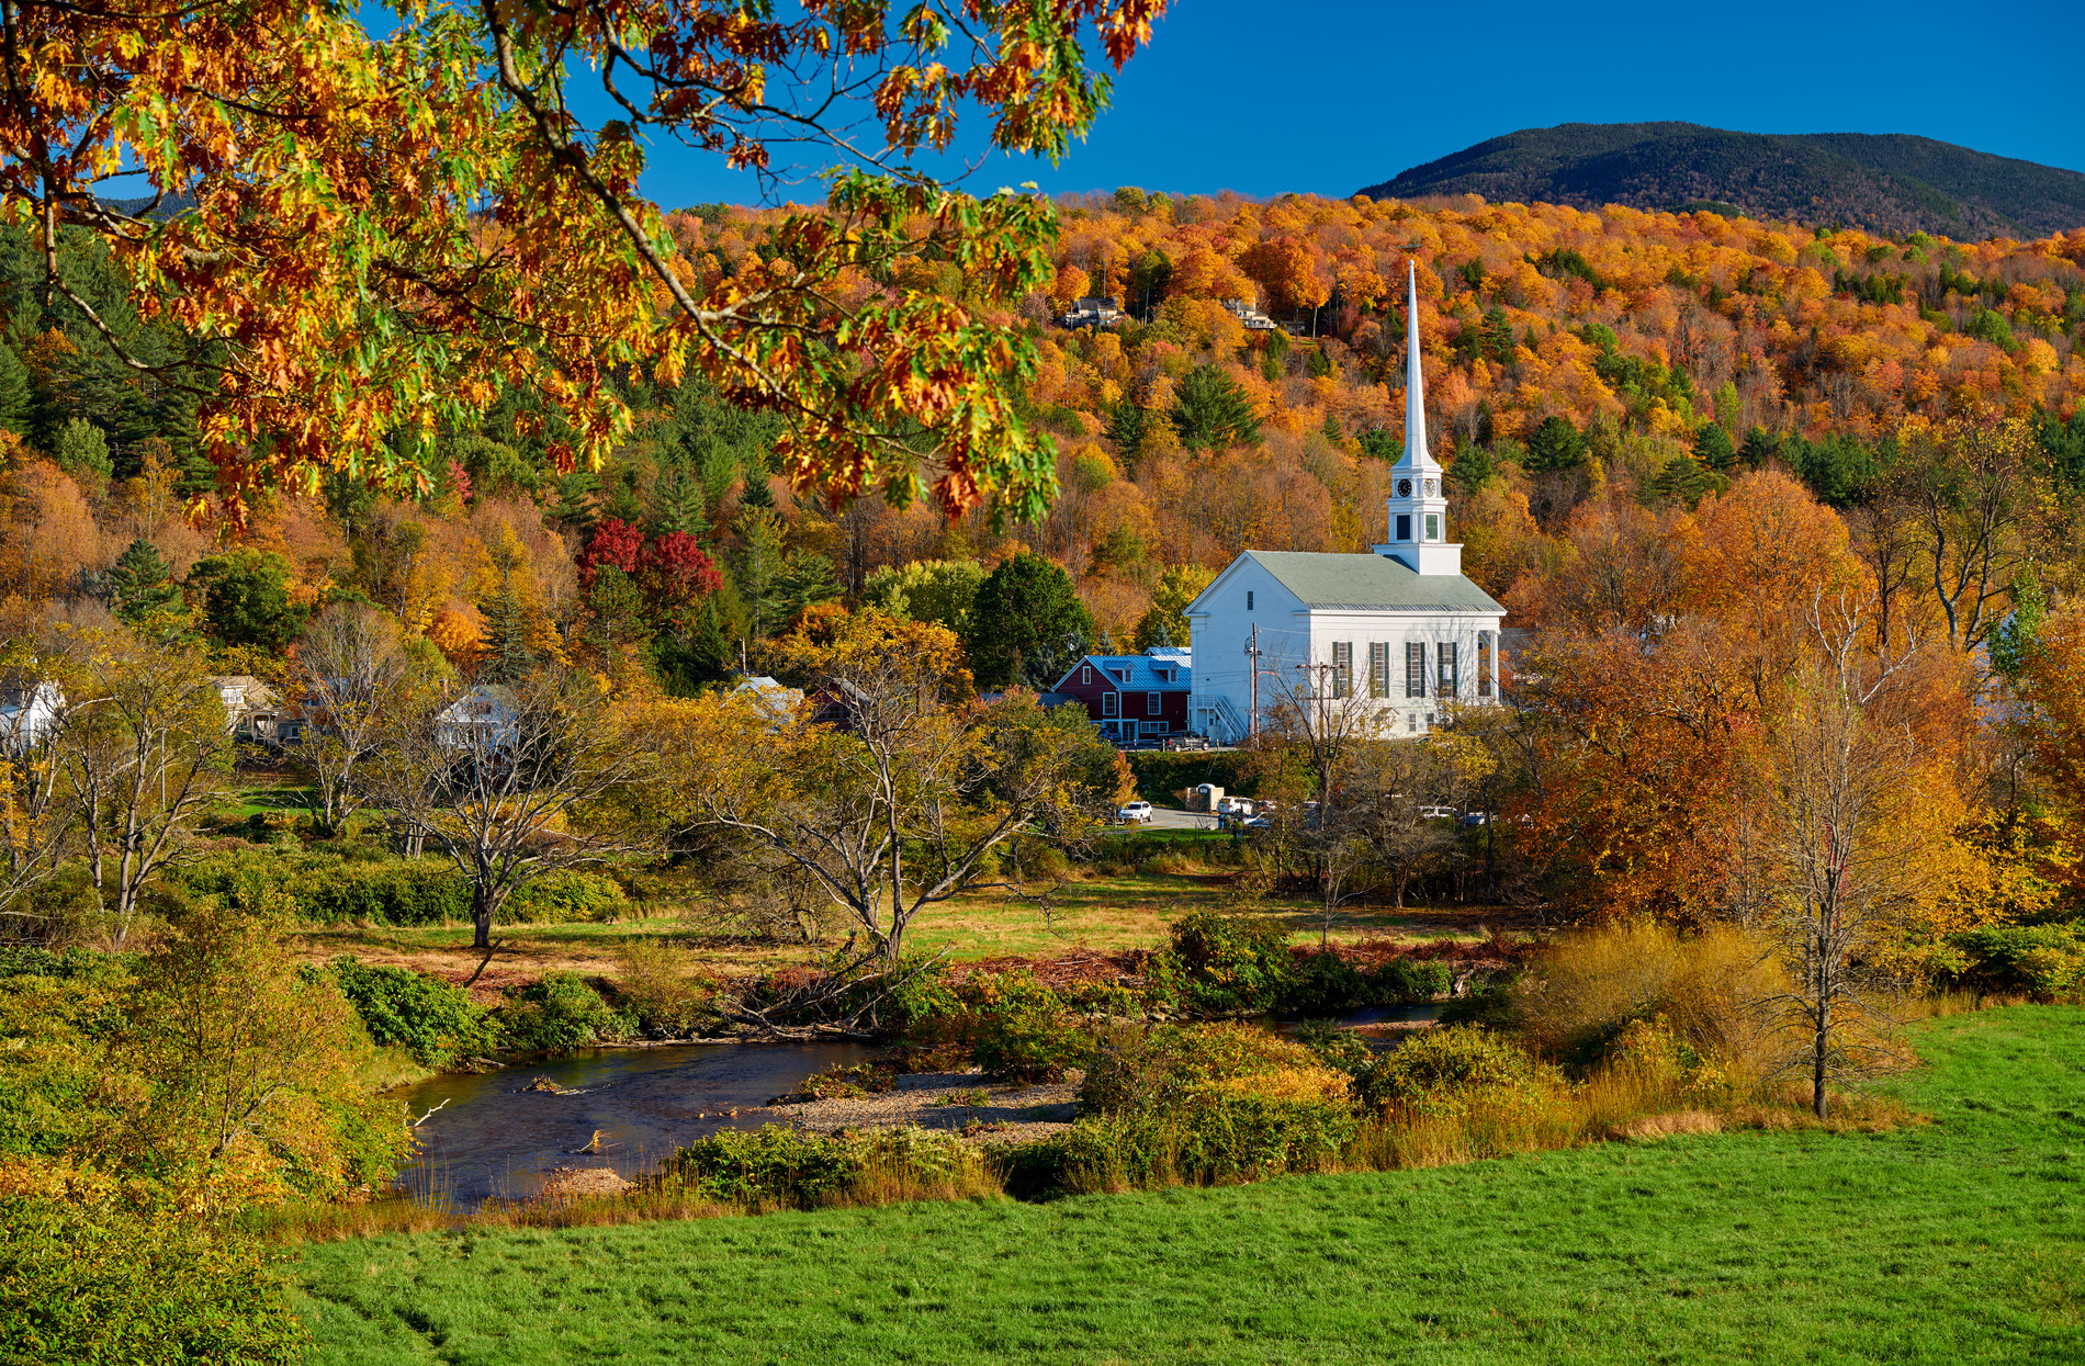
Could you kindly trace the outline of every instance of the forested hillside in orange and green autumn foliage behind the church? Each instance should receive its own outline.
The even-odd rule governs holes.
[[[296,613],[361,594],[457,663],[507,649],[505,632],[684,688],[809,603],[888,601],[913,561],[990,567],[1026,546],[1063,565],[1099,630],[1149,636],[1153,601],[1178,611],[1245,546],[1351,551],[1382,534],[1382,471],[1403,442],[1407,261],[1434,450],[1457,486],[1466,563],[1497,594],[1553,563],[1587,503],[1687,511],[1747,467],[1781,465],[1847,509],[1887,482],[1908,438],[1954,415],[2027,419],[2066,490],[2052,507],[2085,482],[2085,231],[1958,244],[1618,206],[1140,190],[1059,209],[1055,288],[1017,307],[1040,342],[1022,405],[1059,448],[1049,517],[995,528],[988,509],[945,523],[926,505],[792,496],[774,417],[626,371],[642,419],[598,471],[559,473],[559,423],[509,392],[484,428],[442,438],[417,503],[338,475],[277,490],[236,557],[288,615],[219,634],[265,663]],[[749,269],[780,217],[669,215],[680,269]],[[19,242],[0,263],[13,619],[44,601],[121,611],[140,571],[190,582],[200,603],[194,567],[229,546],[206,505],[183,515],[183,496],[213,488],[192,396],[125,373],[63,300],[44,315]],[[69,269],[154,355],[94,250]],[[890,286],[965,290],[945,261]],[[1132,319],[1057,327],[1086,294],[1120,296]],[[1230,298],[1303,336],[1247,332]],[[2058,586],[2077,578],[2060,538],[2039,563]]]

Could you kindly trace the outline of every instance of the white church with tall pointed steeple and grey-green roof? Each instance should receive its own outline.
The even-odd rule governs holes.
[[[1297,699],[1366,697],[1395,734],[1424,734],[1451,701],[1499,701],[1505,609],[1462,576],[1462,544],[1447,540],[1416,269],[1405,288],[1405,453],[1391,467],[1389,542],[1366,555],[1245,551],[1188,603],[1188,724],[1211,740],[1243,740]]]

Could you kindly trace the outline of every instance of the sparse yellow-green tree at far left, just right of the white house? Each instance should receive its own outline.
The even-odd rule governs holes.
[[[83,651],[58,761],[121,945],[138,893],[179,857],[231,774],[231,728],[198,651],[104,634]]]

